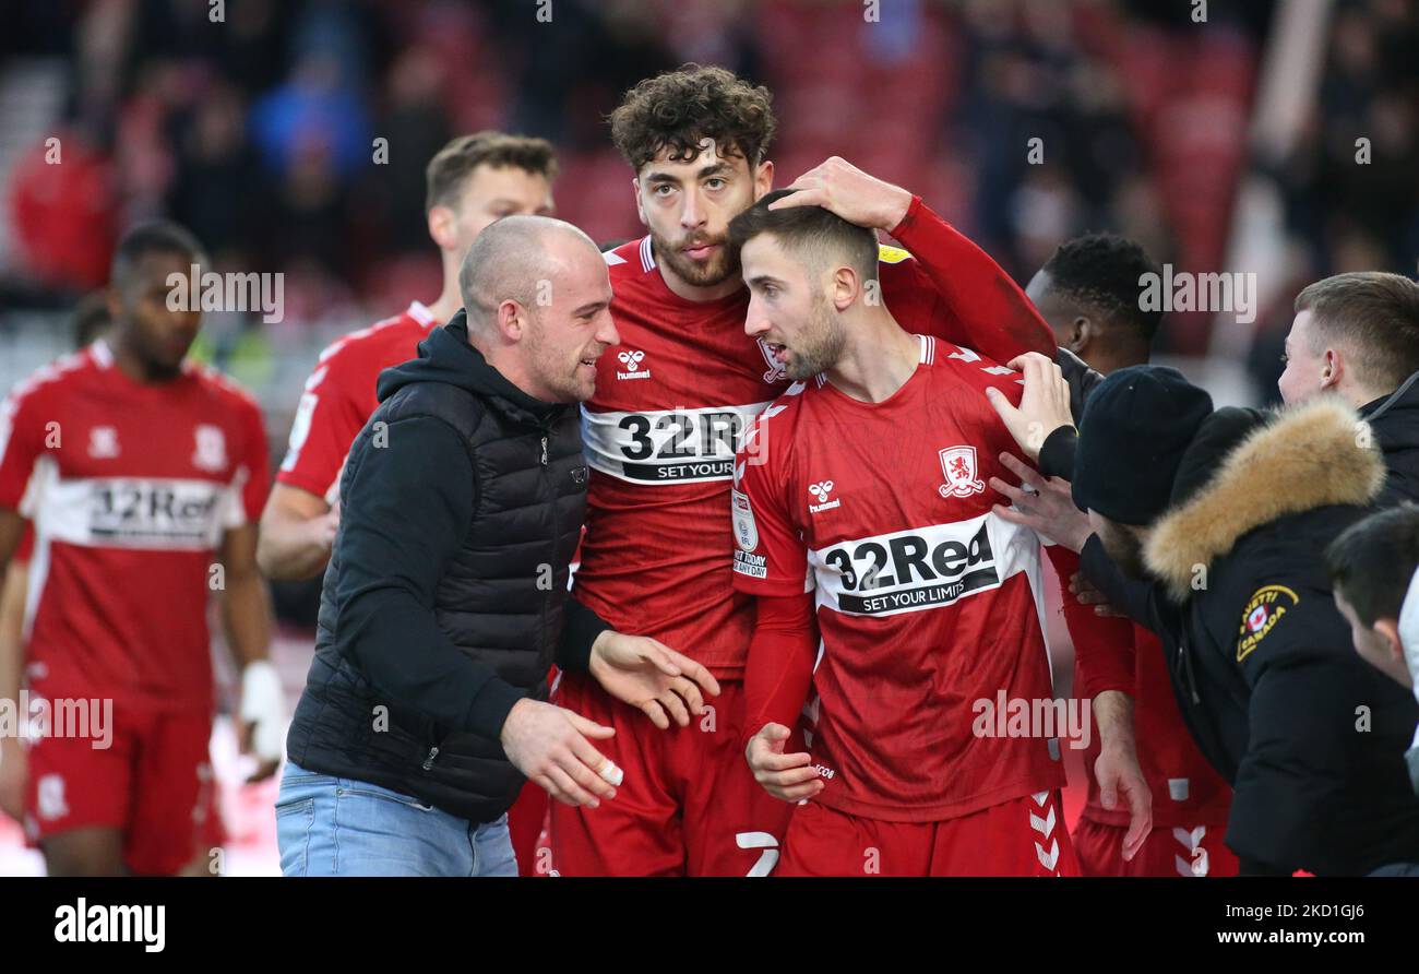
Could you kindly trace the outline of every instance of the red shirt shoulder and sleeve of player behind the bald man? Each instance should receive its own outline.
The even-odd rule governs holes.
[[[414,301],[404,314],[350,332],[321,352],[305,381],[277,483],[335,503],[350,443],[379,407],[379,373],[416,358],[434,324],[429,308]]]

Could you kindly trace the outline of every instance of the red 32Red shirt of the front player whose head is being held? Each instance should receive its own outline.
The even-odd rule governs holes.
[[[1040,540],[992,513],[988,486],[1010,477],[998,457],[1015,442],[985,388],[1017,403],[1019,379],[918,341],[917,371],[884,402],[822,376],[775,400],[745,437],[732,503],[735,588],[815,593],[815,801],[907,822],[1064,782],[1043,728],[996,735],[1010,701],[1053,697]],[[979,701],[1002,720],[978,735]]]

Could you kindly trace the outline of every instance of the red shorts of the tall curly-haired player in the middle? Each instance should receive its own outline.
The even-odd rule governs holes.
[[[768,875],[793,809],[763,791],[744,760],[744,683],[721,680],[719,689],[688,727],[660,730],[590,677],[563,673],[555,703],[616,728],[614,737],[592,744],[624,779],[600,808],[551,802],[536,872]]]

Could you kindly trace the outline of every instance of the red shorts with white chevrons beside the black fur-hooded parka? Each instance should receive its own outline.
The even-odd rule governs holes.
[[[1223,845],[1226,828],[1156,828],[1144,839],[1132,862],[1124,862],[1127,825],[1104,825],[1080,818],[1074,850],[1086,876],[1236,876],[1237,858]]]

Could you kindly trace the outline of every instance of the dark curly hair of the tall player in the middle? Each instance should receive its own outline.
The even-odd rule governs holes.
[[[724,68],[684,64],[626,92],[610,114],[612,141],[637,173],[667,146],[671,159],[695,159],[707,136],[721,153],[756,166],[773,139],[772,99],[763,85]]]

